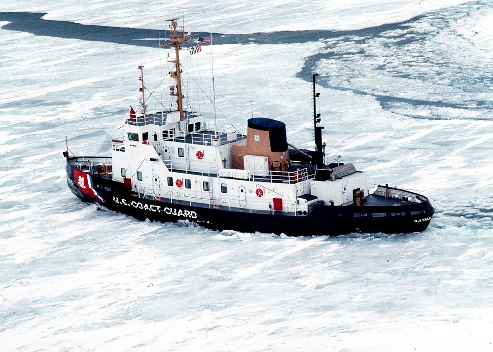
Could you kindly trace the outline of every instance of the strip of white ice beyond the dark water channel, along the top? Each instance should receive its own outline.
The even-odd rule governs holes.
[[[196,31],[253,33],[306,29],[355,29],[399,22],[423,13],[466,3],[467,0],[256,0],[16,1],[2,11],[46,12],[46,19],[117,27],[163,29],[165,20],[185,18]],[[179,13],[177,15],[177,13]]]

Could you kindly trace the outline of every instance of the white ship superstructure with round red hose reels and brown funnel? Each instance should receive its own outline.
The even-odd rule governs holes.
[[[276,122],[276,128],[284,125],[257,120]],[[365,173],[357,172],[352,164],[334,168],[327,180],[317,180],[309,168],[291,163],[287,151],[272,152],[266,141],[268,131],[262,135],[249,127],[253,146],[248,149],[247,135],[216,135],[201,116],[186,112],[179,121],[177,111],[126,119],[124,131],[112,141],[112,179],[141,197],[218,209],[306,214],[317,202],[352,204],[356,189],[368,195]],[[260,141],[267,144],[262,146]],[[234,158],[234,149],[246,154],[243,163],[238,162],[241,155]]]

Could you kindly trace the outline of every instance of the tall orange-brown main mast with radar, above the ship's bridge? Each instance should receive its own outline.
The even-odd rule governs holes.
[[[171,93],[170,95],[176,97],[176,105],[178,106],[178,111],[180,112],[180,121],[183,121],[183,98],[185,96],[181,91],[181,68],[180,68],[180,56],[179,49],[181,49],[181,45],[184,43],[191,43],[191,40],[188,40],[190,36],[185,36],[185,28],[184,26],[178,26],[176,22],[177,18],[171,20],[170,24],[170,41],[171,44],[159,45],[160,48],[165,48],[168,46],[173,46],[175,48],[175,60],[168,60],[168,62],[175,64],[175,71],[171,71],[170,75],[172,78],[176,79],[176,92],[175,87],[170,87]]]

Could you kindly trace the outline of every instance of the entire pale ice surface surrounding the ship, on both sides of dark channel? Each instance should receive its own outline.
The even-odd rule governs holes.
[[[166,52],[0,29],[0,350],[492,351],[491,2],[319,2],[178,5],[187,25],[225,34],[344,29],[215,45],[219,118],[244,127],[253,101],[254,116],[284,121],[289,141],[310,147],[317,71],[328,154],[370,183],[428,196],[430,227],[285,238],[84,204],[67,188],[64,136],[75,154],[110,155],[138,97],[137,65],[156,87]],[[161,29],[181,17],[161,1],[141,6],[21,0],[2,11]],[[186,60],[209,96],[210,63],[208,47]]]

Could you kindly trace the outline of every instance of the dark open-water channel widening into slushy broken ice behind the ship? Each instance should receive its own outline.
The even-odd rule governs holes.
[[[311,81],[313,73],[320,73],[317,83],[324,87],[371,96],[382,109],[409,117],[449,118],[443,115],[443,111],[453,109],[464,111],[463,118],[488,120],[491,116],[487,112],[493,109],[493,102],[479,97],[488,94],[493,87],[490,74],[493,65],[482,59],[480,51],[474,55],[475,48],[456,33],[454,25],[458,20],[487,11],[490,7],[490,1],[469,2],[407,21],[357,30],[213,33],[212,37],[214,44],[322,42],[325,47],[305,59],[296,74],[298,78]],[[0,21],[10,22],[2,27],[4,30],[137,46],[157,47],[168,37],[166,29],[82,25],[44,20],[44,15],[0,12]],[[195,33],[193,28],[189,30]],[[200,32],[198,35],[210,36]],[[450,40],[456,46],[444,45],[444,40]],[[464,59],[462,52],[467,51],[471,51],[471,55]],[[320,67],[327,62],[335,63],[331,70]],[[371,81],[371,84],[360,83],[361,78]],[[406,81],[409,84],[403,84]],[[423,86],[429,94],[423,94]],[[449,92],[444,91],[444,86]],[[470,110],[477,111],[478,116],[471,117],[465,113]]]

